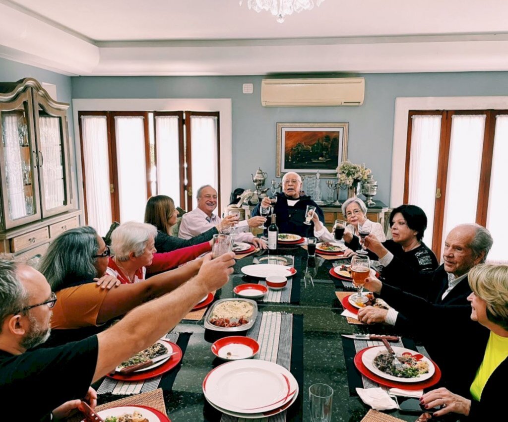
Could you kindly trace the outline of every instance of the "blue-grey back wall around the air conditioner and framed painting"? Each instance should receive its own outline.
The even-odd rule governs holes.
[[[376,198],[388,204],[396,97],[508,95],[508,72],[360,76],[365,77],[360,107],[262,107],[262,76],[78,77],[72,78],[72,97],[231,98],[234,187],[250,187],[250,173],[259,166],[274,177],[277,122],[349,122],[347,156],[372,169]],[[253,83],[254,93],[242,94],[243,83]]]

